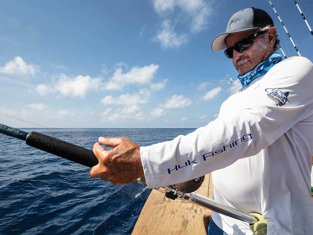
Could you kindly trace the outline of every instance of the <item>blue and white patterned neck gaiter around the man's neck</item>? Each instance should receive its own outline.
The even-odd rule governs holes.
[[[281,55],[273,53],[267,60],[262,63],[259,63],[254,70],[246,73],[245,75],[238,75],[238,78],[241,82],[242,87],[249,86],[249,84],[259,76],[262,76],[267,73],[267,71],[273,67],[275,64],[282,60]]]

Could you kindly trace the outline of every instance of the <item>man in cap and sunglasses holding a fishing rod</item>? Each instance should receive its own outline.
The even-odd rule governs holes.
[[[155,188],[213,172],[214,200],[254,213],[259,227],[212,212],[209,234],[313,234],[313,65],[304,57],[282,60],[278,45],[265,11],[235,13],[212,50],[226,49],[242,88],[223,102],[218,118],[146,147],[100,137],[114,149],[94,145],[99,164],[90,176],[118,185],[144,175]]]

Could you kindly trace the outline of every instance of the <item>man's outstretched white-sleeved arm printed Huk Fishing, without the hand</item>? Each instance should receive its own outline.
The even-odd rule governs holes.
[[[312,63],[299,57],[281,63],[257,85],[234,96],[237,100],[230,97],[219,117],[207,126],[172,141],[141,147],[148,186],[183,182],[253,156],[312,115]],[[281,92],[287,98],[282,102]],[[231,109],[233,105],[237,108]]]

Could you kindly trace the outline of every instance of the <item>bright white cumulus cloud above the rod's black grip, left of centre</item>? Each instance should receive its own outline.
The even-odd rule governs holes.
[[[59,76],[58,81],[51,85],[39,84],[36,91],[44,96],[50,92],[59,92],[63,96],[84,98],[87,92],[97,91],[101,86],[100,78],[79,75],[71,78],[65,74]]]

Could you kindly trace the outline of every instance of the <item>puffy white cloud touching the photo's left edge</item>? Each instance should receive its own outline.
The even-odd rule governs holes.
[[[35,76],[38,72],[39,66],[26,64],[20,56],[16,56],[14,60],[10,60],[3,67],[0,67],[0,73],[8,75]]]

